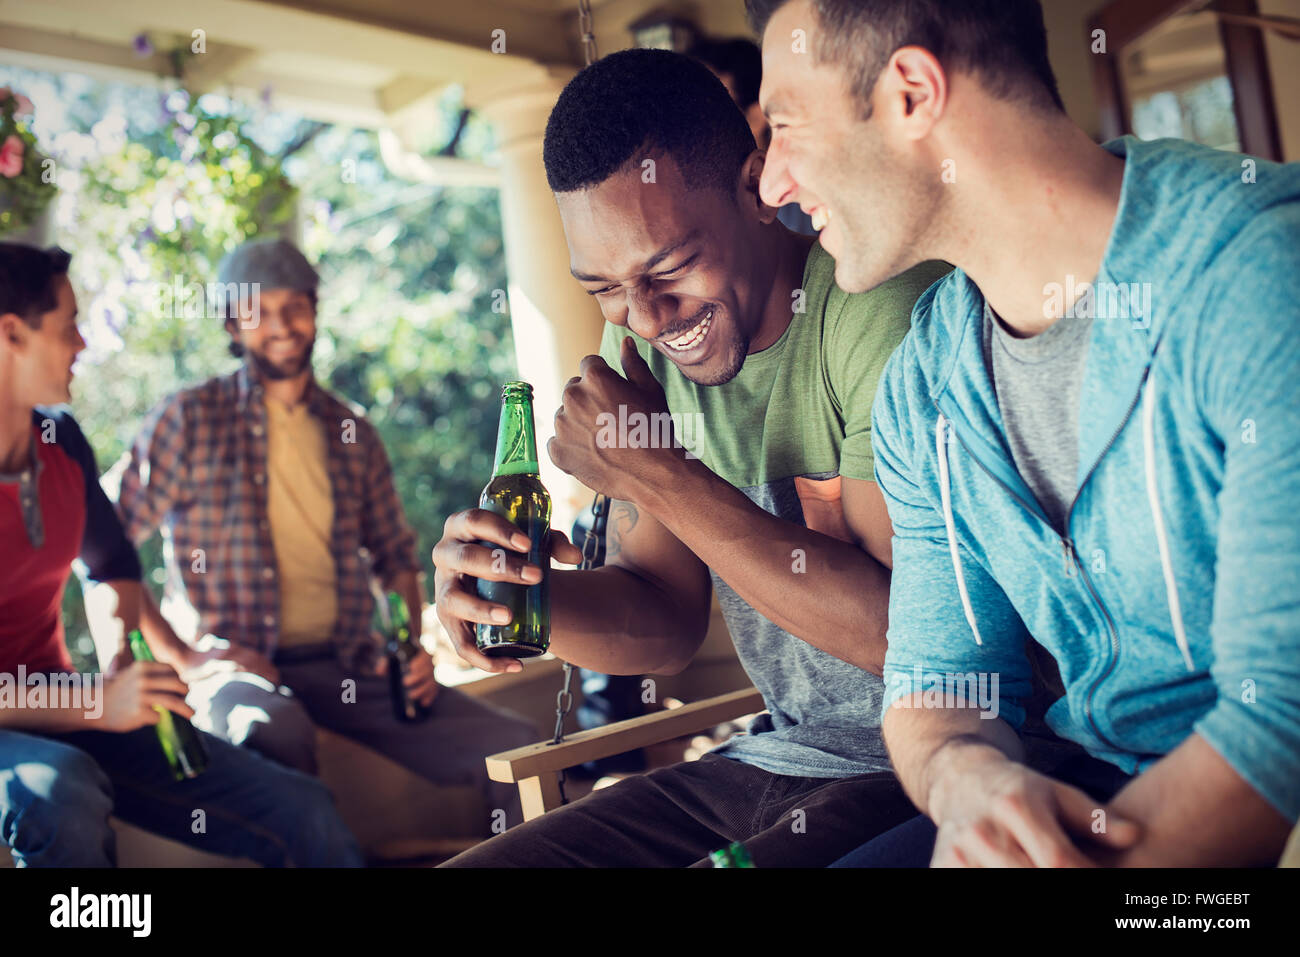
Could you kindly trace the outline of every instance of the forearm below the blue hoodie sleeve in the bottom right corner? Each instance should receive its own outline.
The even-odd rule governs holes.
[[[1274,866],[1291,824],[1200,735],[1134,778],[1109,806],[1141,826],[1119,867]]]

